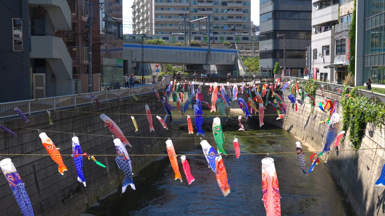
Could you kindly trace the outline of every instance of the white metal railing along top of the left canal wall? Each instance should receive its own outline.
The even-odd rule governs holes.
[[[13,101],[7,103],[0,103],[0,119],[7,118],[12,116],[18,116],[18,114],[13,110],[15,107],[18,107],[24,115],[31,115],[32,113],[45,112],[47,110],[57,110],[63,108],[72,108],[79,105],[92,104],[95,103],[95,100],[89,100],[87,98],[92,96],[97,96],[99,102],[114,100],[117,99],[117,95],[121,98],[127,98],[132,95],[141,95],[151,93],[155,88],[158,90],[162,88],[165,84],[165,81],[169,80],[170,75],[163,76],[162,81],[146,86],[140,86],[136,88],[126,88],[119,90],[109,90],[109,91],[97,91],[91,93],[77,94],[77,95],[65,95],[57,96],[51,98],[39,98],[32,100],[23,100],[23,101]],[[169,82],[168,82],[169,84]]]

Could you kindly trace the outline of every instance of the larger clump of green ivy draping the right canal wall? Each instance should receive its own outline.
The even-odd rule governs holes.
[[[362,135],[367,123],[373,123],[378,128],[382,127],[385,119],[385,105],[383,103],[370,102],[367,97],[358,97],[356,88],[349,93],[351,98],[346,98],[348,88],[345,87],[342,92],[342,130],[349,130],[349,141],[351,147],[358,149],[362,143]],[[345,140],[345,136],[341,139],[341,143]]]

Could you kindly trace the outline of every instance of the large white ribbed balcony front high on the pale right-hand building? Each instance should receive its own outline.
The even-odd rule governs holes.
[[[330,5],[329,7],[321,8],[311,13],[311,25],[319,25],[322,23],[330,23],[338,20],[338,3]]]

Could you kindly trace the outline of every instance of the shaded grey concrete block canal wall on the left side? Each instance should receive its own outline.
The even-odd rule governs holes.
[[[164,129],[157,120],[152,117],[155,132],[149,133],[148,121],[144,109],[147,103],[154,115],[164,115],[164,106],[152,95],[138,96],[139,100],[132,98],[123,101],[113,100],[101,103],[103,108],[97,112],[94,103],[64,111],[52,111],[51,118],[54,125],[49,126],[47,113],[27,116],[30,122],[25,123],[21,118],[2,121],[2,125],[10,125],[18,136],[14,137],[1,130],[0,153],[7,154],[47,154],[36,130],[15,128],[27,127],[44,131],[60,148],[62,155],[72,154],[72,133],[93,134],[105,136],[77,135],[83,152],[89,155],[114,155],[115,148],[112,141],[112,133],[99,118],[101,113],[106,113],[117,123],[127,138],[132,148],[127,147],[129,154],[159,154],[165,150],[164,140],[146,137],[169,137],[170,132]],[[110,114],[108,114],[110,113]],[[115,114],[112,114],[115,113]],[[117,114],[120,113],[120,114]],[[135,132],[131,115],[134,113],[138,131]],[[163,116],[162,116],[163,117]],[[170,123],[167,120],[168,128]],[[52,132],[50,132],[52,131]],[[68,132],[68,133],[59,133]],[[31,199],[35,215],[37,216],[77,216],[86,208],[96,203],[98,199],[122,185],[124,173],[117,167],[114,156],[96,156],[100,163],[106,165],[102,168],[90,160],[84,158],[83,171],[87,186],[77,181],[77,173],[71,156],[62,156],[68,171],[62,176],[58,172],[58,165],[49,156],[9,156],[20,174],[25,188]],[[133,173],[150,164],[157,156],[131,156]],[[127,188],[126,193],[130,193]],[[0,215],[21,215],[20,209],[13,197],[12,191],[4,177],[0,176]]]

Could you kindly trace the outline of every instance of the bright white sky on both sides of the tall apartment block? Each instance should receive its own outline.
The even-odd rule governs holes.
[[[131,6],[134,0],[123,1],[123,33],[132,34],[132,13]],[[259,25],[259,0],[250,0],[251,2],[251,20],[255,25]]]

